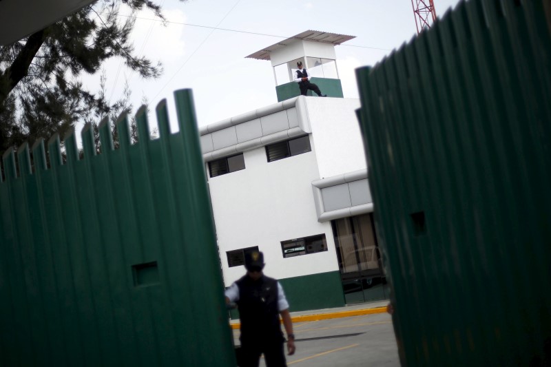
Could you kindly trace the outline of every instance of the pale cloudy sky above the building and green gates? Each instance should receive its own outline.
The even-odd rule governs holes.
[[[440,17],[457,2],[435,0],[437,15]],[[173,131],[177,129],[174,90],[194,91],[199,126],[277,103],[271,63],[245,56],[305,30],[356,36],[335,46],[345,98],[358,98],[355,68],[375,65],[417,34],[410,0],[188,0],[185,3],[160,0],[160,3],[171,23],[163,26],[151,12],[141,12],[133,39],[136,52],[163,63],[163,76],[143,81],[136,73],[121,67],[119,60],[110,61],[105,65],[107,96],[112,96],[114,102],[128,80],[134,112],[143,96],[152,111],[161,99],[167,98]],[[94,90],[99,75],[85,76],[83,82]],[[150,121],[156,125],[154,118]]]

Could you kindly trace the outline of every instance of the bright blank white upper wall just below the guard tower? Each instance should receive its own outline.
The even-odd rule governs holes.
[[[319,97],[305,100],[320,178],[365,169],[364,143],[355,115],[360,100]]]

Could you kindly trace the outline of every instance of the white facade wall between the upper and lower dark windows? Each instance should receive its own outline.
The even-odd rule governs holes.
[[[331,224],[319,223],[311,182],[320,178],[314,151],[267,162],[264,147],[245,151],[245,167],[209,178],[224,281],[227,286],[245,274],[229,268],[226,251],[258,246],[264,273],[283,279],[337,271]],[[328,251],[283,258],[281,241],[325,233]]]

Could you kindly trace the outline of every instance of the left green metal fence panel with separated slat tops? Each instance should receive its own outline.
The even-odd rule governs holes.
[[[0,366],[235,366],[191,91],[3,154]],[[16,165],[16,158],[17,163]],[[19,169],[17,169],[19,167]],[[19,174],[17,174],[19,172]]]

